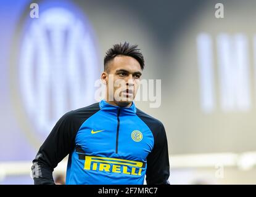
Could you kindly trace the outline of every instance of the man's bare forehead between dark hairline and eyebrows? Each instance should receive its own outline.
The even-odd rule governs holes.
[[[138,60],[133,57],[125,55],[117,55],[112,61],[109,62],[109,71],[115,72],[116,70],[124,69],[131,73],[141,71],[141,65]]]

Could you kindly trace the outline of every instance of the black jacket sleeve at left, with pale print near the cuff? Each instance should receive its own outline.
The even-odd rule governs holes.
[[[75,147],[75,127],[70,112],[57,121],[33,160],[31,170],[35,185],[54,184],[54,168]]]

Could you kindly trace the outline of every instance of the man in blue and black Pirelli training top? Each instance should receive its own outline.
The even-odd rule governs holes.
[[[33,160],[35,184],[54,184],[52,171],[69,154],[67,184],[168,184],[163,124],[135,107],[144,58],[129,43],[104,58],[106,98],[66,113]]]

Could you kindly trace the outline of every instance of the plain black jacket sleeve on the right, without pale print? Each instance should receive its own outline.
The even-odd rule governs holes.
[[[154,147],[147,156],[146,182],[147,185],[170,184],[170,164],[168,143],[165,128],[161,123],[154,135]]]

